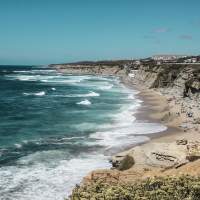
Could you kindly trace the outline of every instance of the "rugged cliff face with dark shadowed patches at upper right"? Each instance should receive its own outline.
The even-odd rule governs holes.
[[[148,88],[168,88],[182,97],[200,97],[200,65],[141,65],[133,73],[134,82]]]

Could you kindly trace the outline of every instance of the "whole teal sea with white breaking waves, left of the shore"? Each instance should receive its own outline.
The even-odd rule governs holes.
[[[0,199],[62,200],[110,155],[165,130],[135,119],[136,94],[112,76],[0,66]]]

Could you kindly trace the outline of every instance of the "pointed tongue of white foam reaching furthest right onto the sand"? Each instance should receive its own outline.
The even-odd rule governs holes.
[[[116,153],[129,145],[149,140],[148,135],[165,131],[167,128],[157,123],[136,123],[123,126],[116,125],[110,131],[96,132],[90,138],[96,139],[98,145],[105,146],[110,152]]]

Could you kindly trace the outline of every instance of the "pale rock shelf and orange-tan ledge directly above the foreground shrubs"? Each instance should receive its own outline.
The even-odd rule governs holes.
[[[114,169],[95,170],[88,174],[84,177],[81,187],[97,181],[107,184],[132,183],[138,179],[155,175],[187,174],[188,170],[196,175],[200,174],[197,170],[200,163],[199,158],[200,143],[198,141],[180,139],[172,143],[158,142],[136,146],[124,152],[124,155],[120,153],[113,156],[112,163],[117,164]],[[122,163],[125,168],[119,170]]]

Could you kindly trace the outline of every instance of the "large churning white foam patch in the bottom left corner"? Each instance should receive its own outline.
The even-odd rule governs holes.
[[[2,167],[0,199],[63,200],[91,170],[110,167],[100,154],[64,157],[61,151],[38,152],[20,159],[19,166]]]

